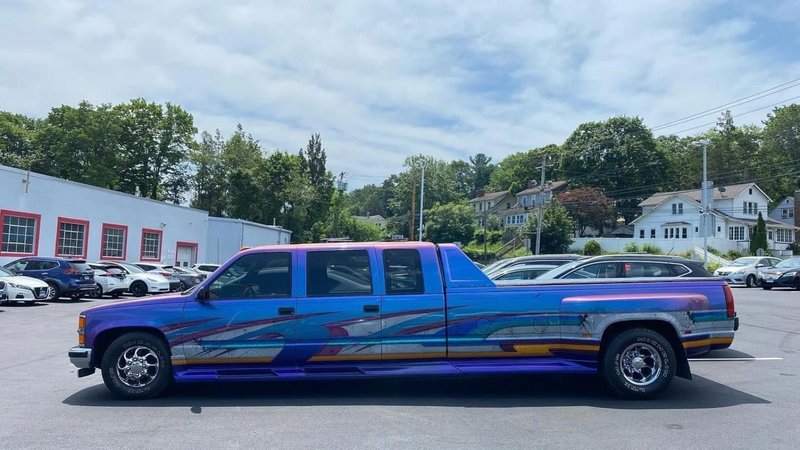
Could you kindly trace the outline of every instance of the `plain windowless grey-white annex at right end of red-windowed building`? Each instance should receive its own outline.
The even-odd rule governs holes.
[[[242,247],[288,244],[292,232],[276,225],[263,225],[241,219],[208,218],[207,263],[222,264]]]

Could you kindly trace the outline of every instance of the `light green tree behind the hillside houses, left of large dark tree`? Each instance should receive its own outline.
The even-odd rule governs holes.
[[[548,155],[547,179],[559,179],[558,153],[558,146],[548,145],[546,147],[508,155],[500,161],[497,167],[492,171],[488,190],[510,190],[512,194],[516,194],[526,189],[530,181],[535,180],[538,183],[542,173],[542,158],[545,155]]]

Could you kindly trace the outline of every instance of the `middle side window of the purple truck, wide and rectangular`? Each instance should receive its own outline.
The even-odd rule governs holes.
[[[308,252],[308,296],[372,295],[372,271],[366,250]]]

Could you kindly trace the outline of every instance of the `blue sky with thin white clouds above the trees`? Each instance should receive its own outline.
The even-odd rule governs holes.
[[[200,130],[241,123],[266,150],[319,132],[331,169],[359,186],[415,153],[499,161],[581,122],[655,126],[800,78],[797,1],[490,4],[5,1],[0,109],[144,97],[182,105]]]

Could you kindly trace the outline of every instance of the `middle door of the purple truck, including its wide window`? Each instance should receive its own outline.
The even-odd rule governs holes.
[[[311,363],[379,360],[381,283],[375,249],[320,247],[301,250],[298,257],[298,275],[305,282],[293,355]]]

